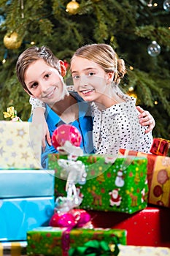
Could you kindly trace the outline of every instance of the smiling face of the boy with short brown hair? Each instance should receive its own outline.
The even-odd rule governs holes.
[[[67,93],[58,69],[50,67],[43,59],[31,63],[26,69],[24,78],[31,96],[48,105],[60,101]]]

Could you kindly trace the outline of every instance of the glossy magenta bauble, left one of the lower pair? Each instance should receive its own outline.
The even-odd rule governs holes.
[[[50,219],[49,225],[52,227],[74,227],[77,224],[74,216],[70,213],[55,213]]]

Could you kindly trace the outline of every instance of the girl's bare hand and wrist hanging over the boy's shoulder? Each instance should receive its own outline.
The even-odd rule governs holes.
[[[33,114],[32,114],[32,123],[33,124],[42,124],[42,150],[45,151],[46,147],[46,141],[51,146],[51,138],[50,138],[50,132],[47,126],[47,122],[45,120],[45,110],[44,108],[34,108]]]

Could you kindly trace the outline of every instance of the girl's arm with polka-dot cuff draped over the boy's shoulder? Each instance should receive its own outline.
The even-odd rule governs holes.
[[[33,124],[42,124],[42,149],[45,150],[45,139],[47,140],[47,143],[51,146],[51,138],[50,138],[50,132],[47,126],[47,122],[45,120],[45,103],[41,102],[38,99],[30,98],[29,100],[32,108],[31,108],[31,114],[32,114],[32,123]]]

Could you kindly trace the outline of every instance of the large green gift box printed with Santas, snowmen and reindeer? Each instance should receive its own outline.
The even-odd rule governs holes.
[[[102,157],[91,154],[75,161],[67,156],[49,154],[49,169],[55,170],[55,197],[66,196],[67,169],[85,167],[85,181],[75,181],[77,193],[82,197],[80,208],[96,211],[119,211],[133,214],[147,206],[147,158],[146,157]],[[80,164],[81,163],[81,164]],[[73,166],[73,167],[72,167]],[[76,176],[76,173],[75,173]]]

